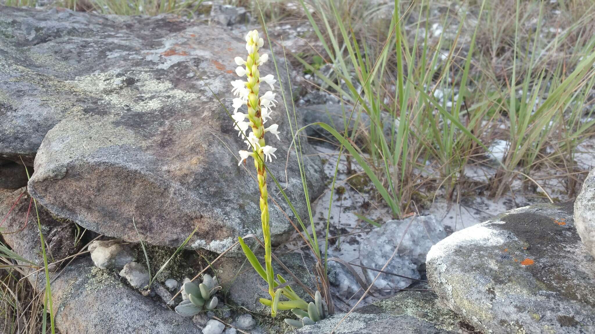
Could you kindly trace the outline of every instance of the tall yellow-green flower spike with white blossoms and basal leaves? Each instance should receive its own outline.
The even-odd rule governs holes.
[[[250,264],[252,264],[262,279],[268,283],[268,294],[271,296],[271,300],[261,298],[260,302],[271,307],[271,316],[274,317],[277,314],[277,310],[300,309],[308,312],[308,307],[313,309],[315,304],[310,303],[312,305],[309,305],[303,301],[281,275],[277,275],[277,280],[275,280],[273,266],[271,265],[271,231],[268,212],[267,169],[265,168],[265,162],[267,160],[273,162],[273,157],[277,157],[275,156],[277,149],[267,145],[265,134],[271,133],[277,137],[277,139],[280,138],[278,136],[279,131],[277,124],[272,124],[268,127],[265,127],[264,125],[269,119],[272,119],[272,108],[277,102],[277,100],[275,100],[275,93],[273,93],[273,85],[277,80],[275,80],[272,74],[265,75],[264,77],[261,77],[260,75],[259,66],[268,60],[267,53],[263,53],[262,55],[259,54],[259,49],[263,44],[264,40],[258,35],[258,31],[252,30],[246,34],[246,51],[248,51],[248,57],[246,59],[243,59],[242,57],[235,58],[236,64],[238,65],[236,74],[240,77],[246,77],[246,81],[231,81],[231,85],[233,86],[231,92],[234,96],[237,96],[233,99],[234,114],[231,118],[233,118],[234,128],[239,131],[238,136],[245,139],[244,143],[248,146],[248,150],[240,150],[240,162],[238,165],[241,165],[246,159],[252,157],[256,172],[258,173],[262,234],[264,237],[265,248],[265,268],[263,268],[258,259],[256,259],[256,256],[252,253],[252,250],[250,250],[248,245],[245,244],[242,237],[239,237],[239,241]],[[261,83],[266,83],[271,88],[271,90],[268,90],[262,94],[262,96],[259,94]],[[243,106],[248,108],[247,114],[239,112],[239,109],[243,108]],[[281,294],[288,298],[289,301],[279,301]]]

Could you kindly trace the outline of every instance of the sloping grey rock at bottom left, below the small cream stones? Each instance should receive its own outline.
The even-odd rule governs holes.
[[[196,334],[198,327],[144,297],[114,275],[76,259],[52,282],[55,323],[62,334]]]

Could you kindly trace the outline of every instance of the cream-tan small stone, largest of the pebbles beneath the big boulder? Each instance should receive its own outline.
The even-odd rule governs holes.
[[[121,240],[93,241],[89,245],[91,259],[100,269],[121,269],[134,261],[132,250]]]

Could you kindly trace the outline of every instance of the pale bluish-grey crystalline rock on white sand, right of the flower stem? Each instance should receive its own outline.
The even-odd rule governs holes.
[[[425,263],[428,251],[444,238],[446,232],[434,216],[389,220],[380,228],[369,232],[360,242],[359,259],[362,265],[380,270],[399,245],[399,250],[384,271],[419,279],[419,267]],[[365,270],[365,273],[368,282],[374,281],[378,275],[378,272],[372,270]],[[411,283],[415,281],[381,273],[374,285],[380,289],[399,289],[406,288]],[[387,293],[393,294],[394,290]]]

